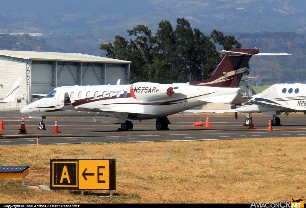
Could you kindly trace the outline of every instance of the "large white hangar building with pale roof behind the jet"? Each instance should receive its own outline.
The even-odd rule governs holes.
[[[0,99],[19,76],[16,102],[0,103],[1,110],[20,110],[60,86],[129,84],[129,61],[80,53],[0,50]]]

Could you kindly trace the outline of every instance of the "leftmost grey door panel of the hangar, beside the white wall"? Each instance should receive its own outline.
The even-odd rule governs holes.
[[[31,94],[48,94],[52,91],[52,62],[32,61]]]

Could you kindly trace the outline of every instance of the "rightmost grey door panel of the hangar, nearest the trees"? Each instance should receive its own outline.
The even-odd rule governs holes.
[[[125,84],[125,65],[124,64],[106,64],[106,81],[105,84]]]

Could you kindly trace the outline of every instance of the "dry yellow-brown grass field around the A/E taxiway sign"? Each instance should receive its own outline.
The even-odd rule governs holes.
[[[0,165],[30,165],[26,185],[50,185],[50,158],[116,159],[107,191],[46,192],[0,179],[0,203],[251,203],[306,198],[306,137],[194,142],[0,146]]]

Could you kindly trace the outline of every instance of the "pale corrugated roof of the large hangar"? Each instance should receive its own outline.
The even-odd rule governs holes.
[[[132,63],[119,59],[110,59],[101,56],[93,56],[82,53],[58,53],[58,52],[37,52],[37,51],[6,51],[0,50],[0,55],[28,60],[46,61],[71,61],[71,62],[97,62],[97,63]]]

